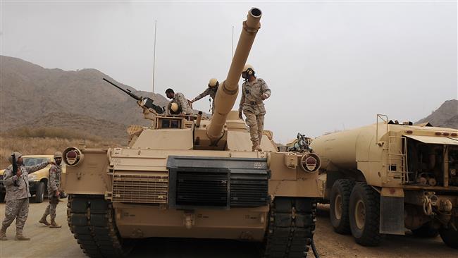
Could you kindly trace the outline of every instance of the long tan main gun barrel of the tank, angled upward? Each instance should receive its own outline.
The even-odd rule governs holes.
[[[252,8],[248,12],[247,20],[243,22],[242,32],[240,34],[237,48],[233,61],[230,64],[229,73],[224,82],[221,83],[216,92],[215,97],[215,112],[211,118],[211,123],[206,128],[206,134],[211,142],[218,141],[224,133],[224,124],[228,117],[228,113],[235,104],[238,94],[238,81],[242,75],[243,66],[247,63],[249,51],[252,49],[256,33],[261,27],[259,20],[261,19],[261,10]]]

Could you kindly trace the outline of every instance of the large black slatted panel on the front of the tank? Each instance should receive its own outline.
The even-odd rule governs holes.
[[[175,209],[261,207],[271,200],[266,159],[169,156],[167,168]]]

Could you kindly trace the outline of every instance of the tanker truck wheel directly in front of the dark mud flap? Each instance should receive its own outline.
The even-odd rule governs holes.
[[[349,202],[349,222],[354,240],[359,245],[380,244],[380,195],[366,183],[354,185]]]

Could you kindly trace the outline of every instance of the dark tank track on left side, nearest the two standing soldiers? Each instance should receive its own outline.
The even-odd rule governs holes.
[[[81,249],[89,257],[125,257],[113,207],[104,195],[69,195],[67,221]]]

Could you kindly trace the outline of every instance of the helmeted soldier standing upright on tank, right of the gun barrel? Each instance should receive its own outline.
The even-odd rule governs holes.
[[[264,100],[271,96],[271,90],[261,78],[256,78],[254,69],[247,64],[242,70],[242,98],[240,99],[239,117],[242,119],[242,111],[246,116],[249,134],[253,142],[252,151],[261,151],[259,144],[264,133],[264,115],[266,108]]]

